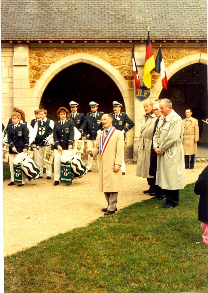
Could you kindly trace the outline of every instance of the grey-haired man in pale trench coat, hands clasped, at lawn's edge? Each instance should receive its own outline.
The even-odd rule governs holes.
[[[154,151],[157,153],[156,185],[166,197],[165,209],[176,207],[179,203],[179,190],[186,186],[183,122],[172,109],[169,99],[160,102],[162,116],[153,137]]]

